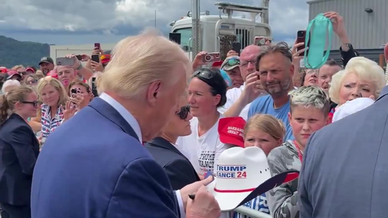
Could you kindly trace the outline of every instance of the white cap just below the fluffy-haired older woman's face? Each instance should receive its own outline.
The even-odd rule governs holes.
[[[374,100],[371,98],[357,98],[347,101],[345,104],[341,105],[334,111],[332,122],[338,121],[349,116],[350,114],[361,111],[366,107],[371,106],[373,103]]]

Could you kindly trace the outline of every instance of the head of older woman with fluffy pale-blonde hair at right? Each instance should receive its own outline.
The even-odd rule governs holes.
[[[345,69],[334,74],[329,96],[338,108],[359,97],[376,99],[384,86],[384,70],[376,62],[365,57],[353,57]],[[336,108],[333,108],[332,114]]]

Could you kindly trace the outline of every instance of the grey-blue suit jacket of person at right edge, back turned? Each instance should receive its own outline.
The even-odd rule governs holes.
[[[371,106],[313,133],[299,175],[301,218],[386,218],[388,87]]]

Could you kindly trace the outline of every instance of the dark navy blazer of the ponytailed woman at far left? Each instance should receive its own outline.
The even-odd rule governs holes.
[[[0,204],[12,218],[31,217],[31,182],[38,154],[31,127],[11,114],[0,127]]]

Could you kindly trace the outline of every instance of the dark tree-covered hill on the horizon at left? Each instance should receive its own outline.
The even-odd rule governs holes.
[[[50,45],[37,42],[20,42],[0,36],[0,66],[23,64],[38,67],[42,57],[50,55]]]

